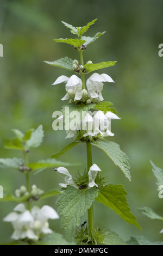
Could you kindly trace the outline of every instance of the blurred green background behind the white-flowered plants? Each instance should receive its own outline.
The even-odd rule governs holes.
[[[72,73],[43,63],[68,56],[78,59],[73,46],[54,43],[54,38],[73,36],[61,21],[73,26],[84,26],[93,19],[95,25],[85,34],[95,35],[106,31],[84,51],[84,60],[93,63],[117,60],[115,66],[99,71],[110,75],[115,84],[105,83],[103,96],[114,103],[121,120],[112,121],[112,141],[121,145],[129,156],[132,181],[129,182],[121,170],[97,148],[93,148],[93,160],[109,175],[110,184],[123,184],[128,191],[131,211],[142,227],[138,230],[126,223],[103,205],[95,203],[95,218],[99,227],[116,231],[124,240],[131,235],[143,235],[146,239],[163,240],[159,231],[163,223],[151,220],[137,211],[148,206],[163,215],[162,199],[158,197],[151,159],[163,168],[163,58],[158,56],[162,39],[161,0],[90,0],[90,1],[45,1],[22,0],[0,2],[0,43],[4,57],[0,58],[0,156],[21,157],[20,153],[4,149],[4,139],[12,138],[11,129],[25,132],[40,124],[45,130],[42,146],[33,149],[31,161],[47,159],[64,147],[64,131],[53,131],[52,113],[60,110],[61,97],[65,95],[64,84],[51,86],[60,75]],[[89,75],[87,75],[89,77]],[[86,167],[86,148],[83,144],[68,151],[60,160],[82,162],[82,166],[68,168],[71,173]],[[44,191],[59,187],[63,180],[53,169],[32,175],[32,184]],[[4,192],[14,193],[24,184],[20,172],[1,169],[0,184]],[[55,209],[56,197],[36,202],[49,204]],[[9,241],[12,233],[10,223],[2,218],[14,208],[15,203],[0,204],[0,242]],[[87,216],[83,217],[87,220]],[[59,220],[51,221],[51,228],[62,233]]]

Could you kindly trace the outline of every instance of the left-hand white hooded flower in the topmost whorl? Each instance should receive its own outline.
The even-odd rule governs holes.
[[[61,99],[61,100],[68,100],[68,90],[71,90],[71,95],[74,92],[74,101],[76,100],[81,100],[82,99],[82,80],[76,76],[72,75],[71,77],[67,76],[59,76],[57,80],[55,80],[54,84],[59,84],[62,82],[67,82],[66,83],[66,95]]]

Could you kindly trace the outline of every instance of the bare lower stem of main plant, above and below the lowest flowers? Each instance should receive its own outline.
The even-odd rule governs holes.
[[[91,143],[89,142],[86,143],[86,149],[87,149],[87,172],[89,172],[89,169],[92,166]],[[91,205],[91,208],[87,210],[87,214],[88,214],[88,223],[89,223],[89,235],[93,238],[93,234],[95,231],[93,204]]]

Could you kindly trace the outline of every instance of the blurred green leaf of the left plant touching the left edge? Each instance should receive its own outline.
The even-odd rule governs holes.
[[[18,159],[14,157],[13,159],[0,159],[0,168],[14,168],[19,169],[21,164],[24,164],[23,159]]]

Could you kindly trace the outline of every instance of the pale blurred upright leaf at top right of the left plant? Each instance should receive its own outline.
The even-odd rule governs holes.
[[[39,125],[39,127],[31,133],[30,138],[26,141],[26,149],[39,147],[42,143],[43,136],[42,125]]]

